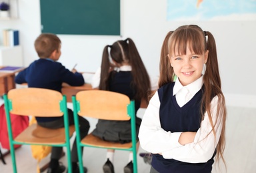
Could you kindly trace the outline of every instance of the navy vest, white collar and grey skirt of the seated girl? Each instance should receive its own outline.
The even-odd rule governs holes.
[[[109,90],[125,94],[130,100],[133,100],[136,89],[132,85],[132,81],[131,66],[122,66],[117,71],[111,71],[109,74]],[[141,100],[135,100],[135,112],[139,109],[140,104]],[[136,117],[135,121],[138,134],[141,118]],[[98,120],[95,130],[93,130],[93,135],[107,141],[131,142],[131,124],[129,120]]]

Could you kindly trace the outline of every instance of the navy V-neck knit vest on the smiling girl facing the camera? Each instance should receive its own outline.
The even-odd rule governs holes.
[[[203,90],[199,90],[187,104],[180,107],[177,104],[175,95],[173,96],[173,86],[175,83],[168,83],[158,89],[161,127],[165,131],[171,132],[197,132],[201,124],[201,98]],[[213,154],[213,157],[215,154]],[[206,163],[187,163],[174,159],[165,159],[159,154],[153,154],[152,166],[158,172],[171,173],[208,173],[212,170],[213,157]]]

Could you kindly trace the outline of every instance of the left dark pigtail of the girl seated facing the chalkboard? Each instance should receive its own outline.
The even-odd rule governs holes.
[[[109,69],[110,69],[110,62],[109,62],[109,51],[108,48],[111,47],[109,45],[105,46],[103,49],[102,61],[101,61],[101,79],[99,82],[99,89],[100,90],[108,90],[108,78],[109,78]]]

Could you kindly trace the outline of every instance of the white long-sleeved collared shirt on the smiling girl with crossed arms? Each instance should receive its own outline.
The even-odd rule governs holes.
[[[187,86],[182,86],[179,80],[175,82],[173,94],[176,94],[179,106],[186,104],[203,85],[203,76]],[[184,96],[184,90],[187,92]],[[211,101],[211,117],[213,123],[216,121],[218,96]],[[139,128],[139,141],[141,147],[151,153],[162,153],[163,158],[175,159],[182,162],[199,163],[207,162],[212,156],[219,141],[222,126],[221,120],[216,122],[216,140],[211,131],[211,124],[207,112],[204,114],[201,126],[195,135],[192,143],[179,144],[179,136],[182,132],[167,132],[161,128],[159,120],[160,101],[158,92],[155,92],[149,102],[141,126]],[[208,135],[209,134],[209,135]],[[207,136],[208,135],[208,136]]]

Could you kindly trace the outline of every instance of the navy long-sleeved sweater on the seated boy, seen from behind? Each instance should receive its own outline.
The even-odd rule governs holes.
[[[18,73],[15,83],[27,83],[29,87],[47,88],[61,92],[62,83],[81,86],[85,83],[80,73],[72,73],[61,63],[51,59],[38,59]],[[36,117],[39,122],[49,122],[61,117]]]

